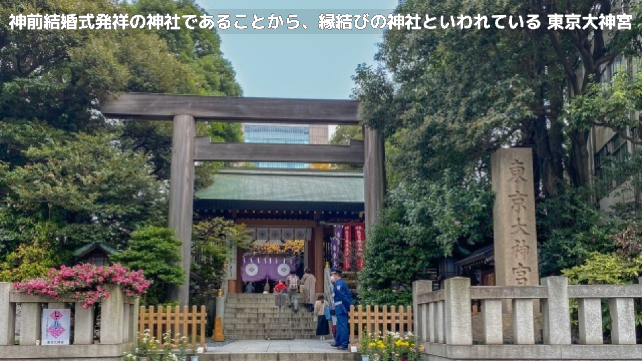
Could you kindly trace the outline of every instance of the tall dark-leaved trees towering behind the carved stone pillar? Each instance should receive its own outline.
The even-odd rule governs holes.
[[[599,124],[627,135],[627,127],[641,125],[639,119],[629,119],[629,110],[639,109],[637,77],[621,72],[612,83],[597,84],[616,57],[639,55],[636,37],[642,30],[641,20],[634,19],[635,29],[631,31],[609,31],[607,35],[607,31],[590,27],[558,31],[549,27],[547,16],[594,13],[598,9],[620,11],[619,6],[594,0],[400,2],[395,13],[510,13],[525,19],[537,14],[542,24],[539,30],[501,30],[491,25],[466,31],[455,26],[386,31],[376,64],[361,64],[356,69],[353,96],[361,102],[365,125],[381,130],[385,136],[386,173],[392,185],[388,197],[395,197],[408,182],[418,187],[440,184],[449,189],[453,188],[451,179],[462,184],[470,179],[485,184],[492,152],[502,146],[525,146],[534,154],[533,194],[538,204],[541,273],[552,274],[578,265],[592,251],[610,252],[609,236],[619,226],[615,221],[604,221],[594,207],[596,189],[589,189],[593,155],[587,152],[587,128]],[[637,177],[638,186],[642,184],[641,164],[638,160],[627,168],[627,176]],[[620,207],[616,211],[639,216],[642,206],[636,203],[635,209]],[[492,200],[484,198],[482,204],[489,209]],[[393,251],[391,240],[404,239],[405,229],[417,229],[402,222],[403,215],[412,214],[416,208],[412,201],[403,204],[392,199],[385,207],[381,225],[369,234],[373,251],[367,250],[367,258],[374,260],[370,264],[367,260],[362,272],[369,275],[364,283],[373,289],[383,292],[388,288],[381,298],[371,298],[379,302],[387,301],[390,297],[385,295],[392,292],[377,278],[386,279],[386,283],[407,283],[408,277],[416,277],[419,267],[415,263],[425,267],[433,261],[431,258],[449,251],[444,241],[452,231],[452,227],[446,227],[443,233],[415,237],[433,242],[417,247],[419,255]],[[401,216],[391,218],[394,214]],[[425,218],[425,224],[434,222]],[[489,223],[471,224],[471,233],[488,234]],[[381,242],[387,247],[376,244]],[[410,243],[406,242],[398,247],[407,247]],[[375,261],[377,258],[380,260]],[[406,260],[413,263],[401,267]],[[383,274],[388,276],[373,276]],[[369,292],[364,295],[370,298]]]

